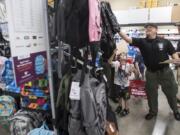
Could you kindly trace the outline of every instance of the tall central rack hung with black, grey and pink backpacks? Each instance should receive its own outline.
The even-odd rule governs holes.
[[[118,134],[108,102],[113,82],[108,59],[120,26],[110,4],[56,0],[51,11],[56,128],[65,135]]]

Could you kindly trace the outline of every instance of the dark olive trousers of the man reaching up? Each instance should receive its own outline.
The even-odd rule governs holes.
[[[162,70],[151,72],[146,71],[146,93],[150,113],[158,112],[158,86],[161,85],[162,91],[167,97],[168,103],[174,112],[178,111],[176,94],[178,86],[174,78],[173,71],[166,67]]]

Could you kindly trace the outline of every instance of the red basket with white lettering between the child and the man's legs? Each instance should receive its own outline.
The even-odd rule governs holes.
[[[131,80],[129,85],[130,94],[135,97],[146,98],[145,81],[144,80]]]

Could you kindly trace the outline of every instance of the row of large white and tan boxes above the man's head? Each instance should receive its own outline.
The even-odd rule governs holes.
[[[128,9],[113,11],[121,26],[143,26],[146,23],[158,25],[180,24],[180,6]]]

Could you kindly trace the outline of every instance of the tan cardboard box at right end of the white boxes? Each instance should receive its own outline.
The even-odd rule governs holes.
[[[172,8],[171,21],[175,23],[180,22],[180,6],[174,6]]]

